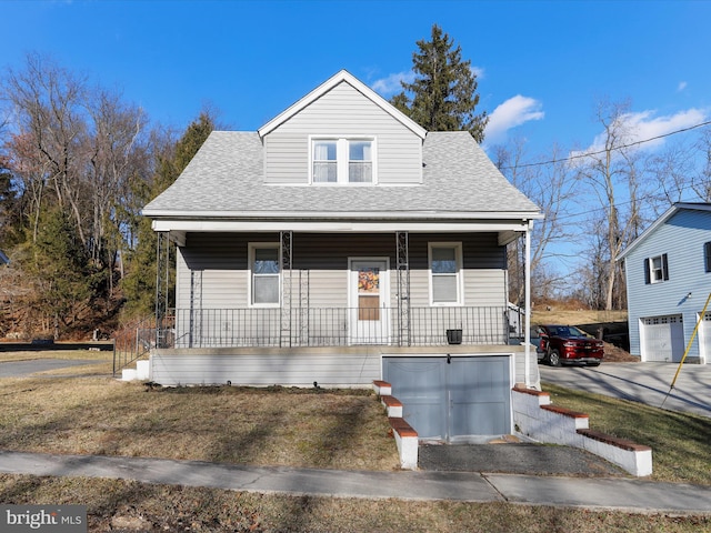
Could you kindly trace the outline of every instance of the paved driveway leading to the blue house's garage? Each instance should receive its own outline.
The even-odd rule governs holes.
[[[542,382],[654,408],[663,403],[671,411],[711,418],[711,364],[682,365],[670,392],[678,369],[678,363],[602,363],[597,368],[539,364]]]

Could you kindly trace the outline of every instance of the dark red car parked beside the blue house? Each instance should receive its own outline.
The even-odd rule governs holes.
[[[574,325],[547,324],[535,328],[540,343],[539,360],[551,366],[563,363],[598,366],[604,356],[604,344]]]

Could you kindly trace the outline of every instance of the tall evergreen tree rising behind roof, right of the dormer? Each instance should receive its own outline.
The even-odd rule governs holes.
[[[487,112],[475,114],[479,104],[477,74],[471,61],[462,60],[461,47],[442,29],[432,26],[431,41],[417,41],[412,54],[412,83],[401,82],[403,91],[391,103],[429,131],[469,131],[477,142],[484,139]]]

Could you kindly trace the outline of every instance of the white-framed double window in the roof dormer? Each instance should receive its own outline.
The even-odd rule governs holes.
[[[374,143],[369,138],[312,138],[312,183],[374,183]]]

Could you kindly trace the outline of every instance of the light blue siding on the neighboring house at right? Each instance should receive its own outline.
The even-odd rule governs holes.
[[[704,242],[711,241],[711,213],[681,210],[640,242],[624,260],[628,283],[630,353],[640,353],[640,319],[683,315],[684,342],[691,338],[698,313],[711,292],[704,269]],[[669,280],[644,283],[644,259],[665,253]],[[691,292],[692,296],[684,296]],[[699,358],[698,336],[690,355]]]

